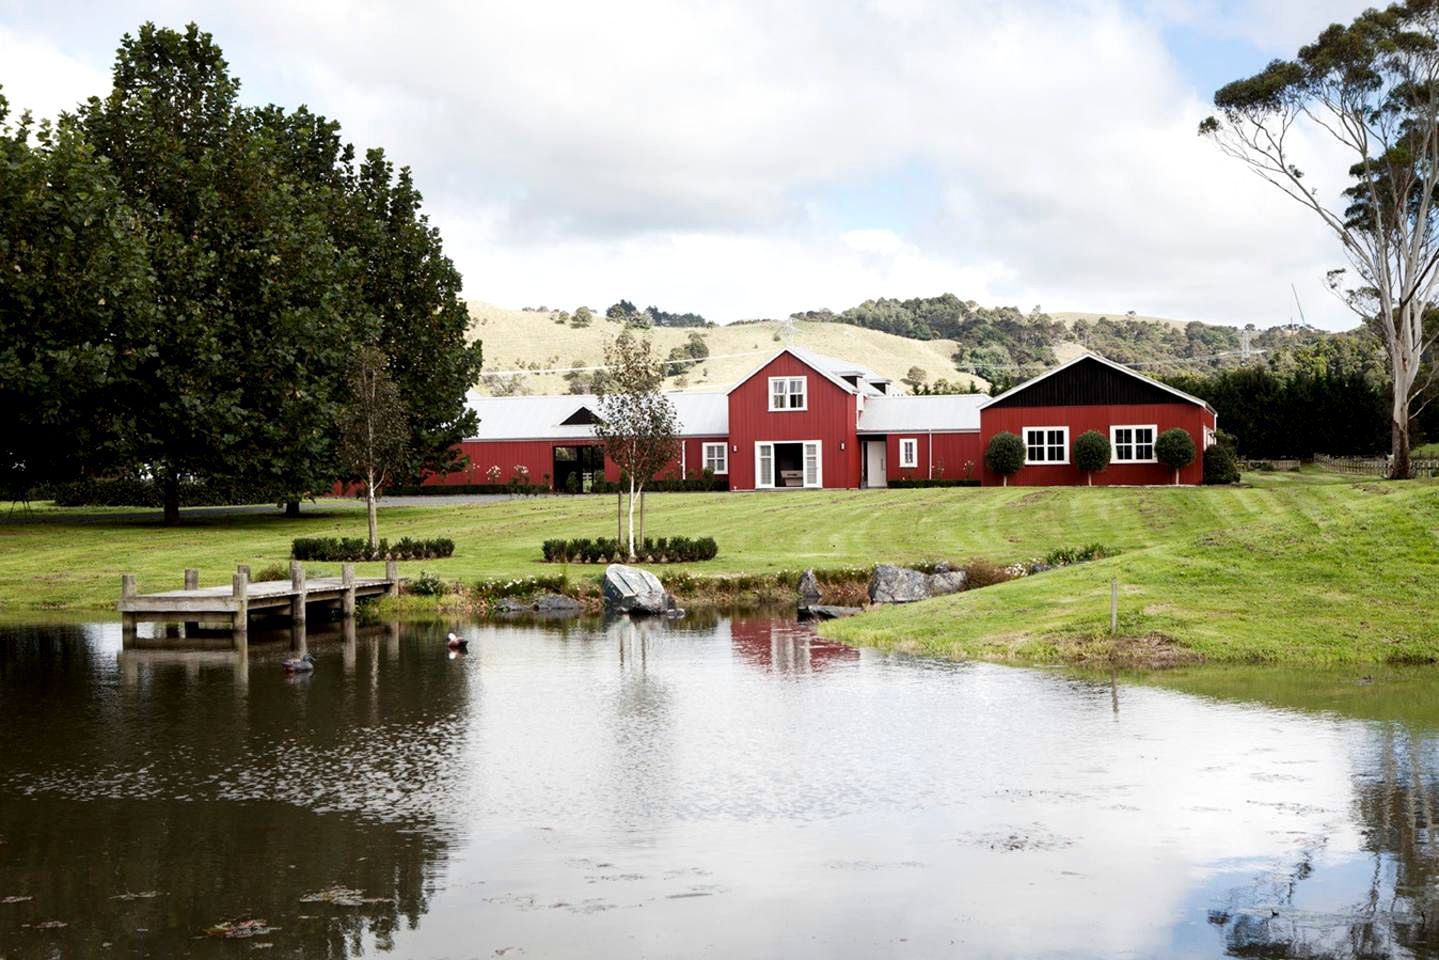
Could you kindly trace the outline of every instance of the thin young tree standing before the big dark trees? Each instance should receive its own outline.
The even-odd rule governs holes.
[[[350,400],[340,417],[340,456],[351,475],[364,482],[371,553],[380,543],[376,494],[404,465],[410,446],[409,413],[387,366],[389,358],[378,348],[360,351],[350,368]]]

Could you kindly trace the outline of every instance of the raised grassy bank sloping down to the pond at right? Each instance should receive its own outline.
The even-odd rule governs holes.
[[[823,633],[1020,662],[1439,661],[1439,485],[1311,472],[1223,491],[1222,510],[1202,512],[1207,494],[1177,498],[1194,515],[1118,557],[876,610]],[[1111,577],[1118,636],[1108,632]]]

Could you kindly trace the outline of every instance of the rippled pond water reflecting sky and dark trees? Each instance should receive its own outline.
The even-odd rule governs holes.
[[[0,628],[0,959],[1439,956],[1439,674],[455,626]]]

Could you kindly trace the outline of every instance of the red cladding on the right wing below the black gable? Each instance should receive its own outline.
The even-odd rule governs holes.
[[[1023,438],[1025,427],[1069,427],[1069,463],[1027,465],[1009,478],[1012,485],[1048,486],[1048,485],[1079,485],[1085,482],[1085,474],[1073,465],[1073,445],[1081,433],[1098,430],[1109,436],[1111,426],[1148,426],[1158,427],[1158,433],[1173,427],[1189,430],[1194,438],[1194,462],[1179,474],[1180,484],[1199,484],[1204,479],[1204,427],[1215,427],[1215,415],[1194,403],[1176,400],[1176,403],[1127,403],[1127,404],[1095,404],[1095,406],[1045,406],[1045,407],[986,407],[980,412],[980,433],[983,436],[981,450],[989,446],[990,438],[996,433],[1010,432]],[[1156,436],[1158,436],[1156,433]],[[984,485],[1000,485],[1003,478],[984,469]],[[1144,484],[1173,484],[1174,471],[1163,463],[1109,463],[1109,466],[1094,475],[1095,485],[1144,485]]]

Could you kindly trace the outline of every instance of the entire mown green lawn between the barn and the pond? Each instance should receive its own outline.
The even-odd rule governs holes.
[[[1114,652],[1121,633],[1164,638],[1207,659],[1430,659],[1439,655],[1439,484],[1356,484],[1322,472],[1253,475],[1249,488],[948,488],[649,498],[650,535],[712,535],[720,557],[675,569],[767,573],[878,561],[1012,561],[1102,543],[1109,560],[826,625],[853,643],[1000,659]],[[236,563],[283,564],[298,535],[363,535],[351,502],[206,517],[167,530],[122,515],[52,510],[0,517],[0,615],[102,610],[119,574],[141,590],[227,581]],[[79,518],[76,514],[86,514]],[[547,537],[614,531],[607,497],[545,497],[381,511],[381,535],[456,541],[456,556],[401,564],[450,580],[554,574]],[[335,564],[328,564],[334,567]],[[321,570],[327,564],[318,564]],[[361,564],[378,570],[380,564]],[[599,567],[571,566],[571,577]]]

